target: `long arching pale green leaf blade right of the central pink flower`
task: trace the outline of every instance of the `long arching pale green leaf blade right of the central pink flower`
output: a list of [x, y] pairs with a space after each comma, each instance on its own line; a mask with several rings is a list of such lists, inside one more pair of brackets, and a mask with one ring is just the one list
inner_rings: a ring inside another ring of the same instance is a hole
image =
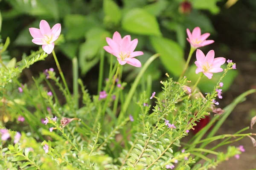
[[143, 76], [143, 74], [145, 73], [145, 71], [147, 70], [148, 66], [151, 64], [151, 62], [153, 62], [154, 59], [156, 59], [159, 56], [160, 56], [160, 54], [154, 54], [153, 56], [151, 56], [147, 60], [147, 62], [143, 66], [143, 68], [140, 70], [140, 73], [137, 75], [136, 79], [134, 80], [134, 83], [132, 84], [131, 89], [130, 89], [130, 91], [129, 91], [126, 99], [125, 99], [124, 105], [122, 106], [122, 110], [121, 110], [121, 112], [119, 114], [119, 117], [118, 117], [118, 120], [117, 120], [118, 124], [122, 121], [123, 117], [125, 116], [127, 108], [128, 108], [128, 106], [129, 106], [129, 104], [131, 102], [131, 98], [134, 95], [134, 92], [136, 91], [137, 86], [139, 85], [141, 77]]

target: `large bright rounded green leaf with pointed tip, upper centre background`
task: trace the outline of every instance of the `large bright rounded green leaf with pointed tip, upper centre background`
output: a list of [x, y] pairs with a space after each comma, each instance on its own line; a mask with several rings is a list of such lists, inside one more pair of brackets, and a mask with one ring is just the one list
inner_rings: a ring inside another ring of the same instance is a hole
[[125, 14], [122, 28], [134, 34], [161, 35], [156, 17], [140, 8], [132, 9]]

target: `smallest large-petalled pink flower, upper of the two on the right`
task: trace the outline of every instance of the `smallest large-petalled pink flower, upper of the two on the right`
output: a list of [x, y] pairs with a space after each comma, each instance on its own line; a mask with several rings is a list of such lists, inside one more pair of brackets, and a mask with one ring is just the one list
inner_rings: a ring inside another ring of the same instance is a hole
[[213, 40], [206, 40], [210, 36], [210, 34], [205, 33], [201, 35], [201, 29], [199, 27], [195, 27], [192, 31], [192, 34], [187, 28], [187, 34], [189, 37], [187, 38], [187, 40], [193, 48], [203, 47], [214, 42]]

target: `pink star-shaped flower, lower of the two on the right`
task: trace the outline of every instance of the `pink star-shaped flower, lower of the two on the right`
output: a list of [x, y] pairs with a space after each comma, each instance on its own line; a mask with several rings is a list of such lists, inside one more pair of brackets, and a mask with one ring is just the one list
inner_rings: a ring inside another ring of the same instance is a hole
[[195, 70], [195, 73], [198, 74], [203, 72], [208, 79], [212, 78], [212, 73], [219, 73], [223, 71], [221, 65], [223, 65], [226, 61], [224, 57], [214, 58], [214, 51], [211, 50], [207, 53], [206, 57], [201, 50], [196, 51], [196, 59], [195, 65], [198, 67]]

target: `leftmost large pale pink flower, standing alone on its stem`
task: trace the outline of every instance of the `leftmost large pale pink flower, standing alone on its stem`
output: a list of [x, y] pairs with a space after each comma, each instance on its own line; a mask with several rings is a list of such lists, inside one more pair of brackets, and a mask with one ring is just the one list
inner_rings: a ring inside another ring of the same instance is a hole
[[61, 34], [61, 24], [55, 24], [51, 29], [47, 21], [41, 20], [39, 28], [29, 28], [29, 32], [34, 38], [32, 42], [42, 45], [44, 52], [51, 54], [54, 48], [54, 42]]

